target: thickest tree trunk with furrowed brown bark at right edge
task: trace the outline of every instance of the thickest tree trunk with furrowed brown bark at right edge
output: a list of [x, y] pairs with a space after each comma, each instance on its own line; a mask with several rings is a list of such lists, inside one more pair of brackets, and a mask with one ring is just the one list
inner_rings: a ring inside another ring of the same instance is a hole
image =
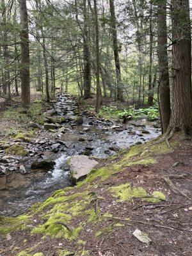
[[192, 122], [189, 1], [172, 1], [172, 115], [167, 134], [189, 134]]

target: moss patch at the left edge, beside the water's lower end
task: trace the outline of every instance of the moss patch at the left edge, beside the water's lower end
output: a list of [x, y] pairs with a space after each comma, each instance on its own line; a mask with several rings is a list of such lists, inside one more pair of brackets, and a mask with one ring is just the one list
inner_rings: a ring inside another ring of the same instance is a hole
[[17, 218], [0, 217], [0, 234], [5, 236], [15, 230], [25, 230], [29, 223], [31, 223], [31, 217], [28, 215], [20, 215]]

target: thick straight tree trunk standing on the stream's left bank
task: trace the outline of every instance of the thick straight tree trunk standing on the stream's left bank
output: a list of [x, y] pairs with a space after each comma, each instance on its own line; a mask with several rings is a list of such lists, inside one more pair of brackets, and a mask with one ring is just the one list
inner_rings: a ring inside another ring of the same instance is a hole
[[20, 9], [20, 56], [21, 56], [21, 100], [22, 106], [27, 108], [30, 104], [30, 81], [29, 81], [29, 33], [28, 33], [28, 10], [26, 0], [19, 0]]

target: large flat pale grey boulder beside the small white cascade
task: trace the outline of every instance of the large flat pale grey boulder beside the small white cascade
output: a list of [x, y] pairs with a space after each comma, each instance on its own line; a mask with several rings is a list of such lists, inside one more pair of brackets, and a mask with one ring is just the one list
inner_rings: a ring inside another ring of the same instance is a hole
[[98, 164], [97, 161], [89, 159], [88, 156], [72, 156], [68, 161], [72, 182], [77, 183], [78, 180], [84, 179]]

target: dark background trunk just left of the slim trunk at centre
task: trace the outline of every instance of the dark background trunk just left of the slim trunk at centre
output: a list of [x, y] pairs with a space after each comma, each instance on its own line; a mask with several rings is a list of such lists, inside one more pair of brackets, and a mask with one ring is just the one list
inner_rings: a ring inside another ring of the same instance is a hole
[[83, 55], [84, 55], [84, 99], [91, 97], [91, 64], [90, 64], [90, 48], [88, 44], [88, 19], [87, 19], [87, 6], [86, 0], [83, 0]]

